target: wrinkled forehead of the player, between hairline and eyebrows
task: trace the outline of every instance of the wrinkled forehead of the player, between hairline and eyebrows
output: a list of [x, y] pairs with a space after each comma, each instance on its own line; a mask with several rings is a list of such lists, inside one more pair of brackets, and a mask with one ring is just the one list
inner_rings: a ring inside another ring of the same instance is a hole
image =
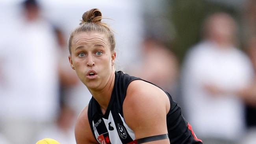
[[91, 31], [91, 32], [80, 32], [80, 33], [74, 34], [72, 42], [73, 44], [78, 44], [80, 42], [85, 42], [85, 43], [100, 42], [100, 43], [107, 44], [108, 40], [107, 40], [106, 34]]

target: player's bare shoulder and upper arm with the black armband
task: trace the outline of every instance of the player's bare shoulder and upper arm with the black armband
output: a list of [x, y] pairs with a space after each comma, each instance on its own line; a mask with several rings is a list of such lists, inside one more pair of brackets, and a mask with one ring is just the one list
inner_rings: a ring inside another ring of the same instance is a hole
[[[134, 131], [135, 138], [166, 134], [166, 114], [170, 109], [169, 98], [158, 87], [145, 81], [132, 81], [123, 103], [126, 124]], [[158, 140], [147, 144], [169, 144], [169, 140]]]

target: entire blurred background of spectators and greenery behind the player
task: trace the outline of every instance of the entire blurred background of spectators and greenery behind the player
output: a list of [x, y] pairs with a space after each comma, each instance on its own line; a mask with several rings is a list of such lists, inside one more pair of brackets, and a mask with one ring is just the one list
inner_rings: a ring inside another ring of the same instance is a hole
[[92, 8], [116, 69], [169, 92], [205, 144], [256, 143], [256, 0], [1, 0], [0, 144], [75, 144], [91, 94], [67, 39]]

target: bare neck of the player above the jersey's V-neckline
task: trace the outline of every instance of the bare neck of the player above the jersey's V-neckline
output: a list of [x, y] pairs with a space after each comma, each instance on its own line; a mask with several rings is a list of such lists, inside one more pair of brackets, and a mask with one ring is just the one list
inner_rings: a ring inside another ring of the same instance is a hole
[[111, 98], [112, 90], [115, 84], [115, 70], [114, 68], [111, 71], [111, 75], [108, 79], [107, 85], [102, 90], [90, 90], [93, 98], [99, 103], [100, 108], [102, 110], [102, 114], [105, 114], [108, 103]]

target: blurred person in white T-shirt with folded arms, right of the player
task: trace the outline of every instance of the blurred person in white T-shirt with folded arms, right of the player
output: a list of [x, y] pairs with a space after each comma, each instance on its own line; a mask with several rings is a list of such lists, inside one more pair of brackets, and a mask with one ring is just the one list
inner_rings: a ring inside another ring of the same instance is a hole
[[204, 40], [187, 54], [182, 91], [188, 121], [206, 144], [235, 144], [244, 134], [243, 101], [235, 91], [253, 78], [249, 58], [236, 45], [236, 23], [215, 13], [204, 23]]

